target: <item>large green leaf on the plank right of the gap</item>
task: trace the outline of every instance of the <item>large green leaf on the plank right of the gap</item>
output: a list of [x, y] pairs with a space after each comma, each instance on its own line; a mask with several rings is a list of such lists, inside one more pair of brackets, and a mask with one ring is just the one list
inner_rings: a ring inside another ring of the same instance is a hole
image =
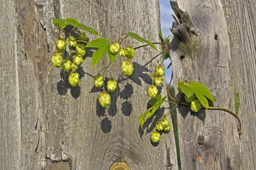
[[178, 82], [178, 87], [188, 98], [195, 94], [205, 108], [209, 107], [206, 97], [215, 102], [211, 92], [204, 84], [200, 82], [190, 82], [189, 85], [185, 85], [184, 82]]

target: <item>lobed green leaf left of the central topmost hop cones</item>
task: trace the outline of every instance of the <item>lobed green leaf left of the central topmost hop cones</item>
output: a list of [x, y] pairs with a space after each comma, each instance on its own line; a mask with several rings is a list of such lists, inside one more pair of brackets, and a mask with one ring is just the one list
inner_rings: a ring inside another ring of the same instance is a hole
[[117, 54], [115, 55], [111, 54], [109, 51], [109, 46], [110, 46], [110, 40], [105, 38], [98, 38], [96, 40], [92, 40], [85, 46], [87, 48], [88, 47], [99, 48], [97, 51], [93, 52], [93, 67], [100, 62], [100, 60], [106, 53], [108, 54], [108, 57], [111, 63], [113, 63], [113, 61], [116, 59]]

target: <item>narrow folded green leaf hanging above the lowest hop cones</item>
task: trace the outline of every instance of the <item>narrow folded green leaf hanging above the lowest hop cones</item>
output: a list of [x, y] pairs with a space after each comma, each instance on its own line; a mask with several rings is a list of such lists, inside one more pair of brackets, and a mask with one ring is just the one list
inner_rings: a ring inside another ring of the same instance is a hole
[[161, 95], [157, 95], [157, 97], [153, 98], [154, 100], [150, 100], [149, 102], [151, 104], [153, 104], [153, 102], [155, 101], [154, 105], [151, 106], [151, 108], [149, 108], [145, 113], [143, 113], [142, 115], [140, 115], [139, 118], [139, 122], [140, 122], [140, 127], [143, 129], [143, 124], [144, 122], [150, 118], [155, 111], [157, 111], [157, 109], [162, 105], [163, 101], [165, 100], [166, 96], [163, 97], [163, 99], [161, 99]]

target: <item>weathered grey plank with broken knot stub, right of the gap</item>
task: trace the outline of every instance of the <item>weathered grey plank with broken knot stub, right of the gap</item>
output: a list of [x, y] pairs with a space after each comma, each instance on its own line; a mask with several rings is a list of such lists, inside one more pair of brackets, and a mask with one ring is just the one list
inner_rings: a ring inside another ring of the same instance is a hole
[[[180, 8], [188, 12], [192, 25], [188, 16], [183, 17], [182, 11], [176, 12], [179, 20], [183, 18], [183, 21], [175, 26], [175, 30], [172, 29], [177, 33], [175, 38], [171, 35], [175, 89], [177, 82], [185, 77], [202, 82], [212, 92], [217, 106], [234, 111], [229, 37], [221, 1], [178, 2]], [[190, 31], [191, 26], [200, 31]], [[215, 34], [218, 34], [217, 40], [214, 39]], [[186, 39], [188, 41], [184, 42]], [[184, 58], [180, 57], [182, 53]], [[232, 115], [212, 110], [193, 113], [189, 107], [180, 106], [177, 122], [182, 169], [241, 169], [237, 121]], [[202, 138], [204, 142], [200, 142]]]

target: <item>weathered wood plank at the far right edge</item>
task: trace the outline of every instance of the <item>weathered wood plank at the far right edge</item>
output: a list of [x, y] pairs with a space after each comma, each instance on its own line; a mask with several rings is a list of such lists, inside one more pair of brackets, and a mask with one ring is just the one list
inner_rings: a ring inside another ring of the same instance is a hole
[[256, 169], [256, 3], [222, 1], [230, 41], [231, 77], [240, 95], [241, 167]]

